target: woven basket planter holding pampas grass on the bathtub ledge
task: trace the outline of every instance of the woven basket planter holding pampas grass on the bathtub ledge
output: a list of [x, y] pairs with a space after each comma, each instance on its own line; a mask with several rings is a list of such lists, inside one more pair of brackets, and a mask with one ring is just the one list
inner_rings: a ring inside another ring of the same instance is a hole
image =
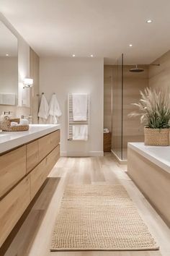
[[145, 144], [151, 146], [169, 146], [170, 129], [144, 128]]

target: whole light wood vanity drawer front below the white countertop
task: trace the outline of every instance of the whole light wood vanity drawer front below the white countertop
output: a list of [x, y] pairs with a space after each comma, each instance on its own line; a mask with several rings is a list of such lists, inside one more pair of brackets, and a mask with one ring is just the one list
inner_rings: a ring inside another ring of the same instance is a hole
[[60, 131], [0, 155], [0, 247], [60, 157]]

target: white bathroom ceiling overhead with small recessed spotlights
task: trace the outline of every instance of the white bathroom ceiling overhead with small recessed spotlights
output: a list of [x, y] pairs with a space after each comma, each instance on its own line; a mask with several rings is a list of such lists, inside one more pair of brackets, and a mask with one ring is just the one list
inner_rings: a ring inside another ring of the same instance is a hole
[[40, 56], [109, 64], [124, 53], [126, 64], [149, 64], [170, 49], [169, 0], [1, 0], [0, 9]]

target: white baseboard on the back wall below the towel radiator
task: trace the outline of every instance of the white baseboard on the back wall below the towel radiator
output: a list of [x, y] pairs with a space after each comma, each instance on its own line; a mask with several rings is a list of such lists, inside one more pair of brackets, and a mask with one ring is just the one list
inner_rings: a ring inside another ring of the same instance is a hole
[[79, 151], [73, 151], [73, 152], [67, 152], [67, 151], [61, 151], [61, 156], [68, 156], [68, 157], [88, 157], [88, 156], [103, 156], [103, 151], [89, 151], [89, 152], [79, 152]]

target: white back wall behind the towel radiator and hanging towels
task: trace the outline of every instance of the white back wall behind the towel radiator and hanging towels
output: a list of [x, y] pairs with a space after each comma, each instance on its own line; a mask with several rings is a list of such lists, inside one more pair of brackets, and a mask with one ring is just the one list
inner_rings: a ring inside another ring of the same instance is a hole
[[[62, 155], [103, 154], [103, 59], [91, 58], [40, 58], [40, 93], [48, 101], [57, 94], [61, 116]], [[89, 93], [91, 101], [89, 140], [68, 141], [68, 93]]]

